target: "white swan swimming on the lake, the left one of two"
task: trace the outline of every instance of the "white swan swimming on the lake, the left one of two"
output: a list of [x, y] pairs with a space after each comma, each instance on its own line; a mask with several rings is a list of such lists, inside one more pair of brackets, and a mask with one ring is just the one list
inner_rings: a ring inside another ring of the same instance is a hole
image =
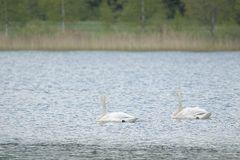
[[97, 122], [130, 122], [133, 123], [137, 120], [136, 117], [131, 116], [124, 112], [112, 112], [107, 113], [106, 108], [106, 97], [101, 97], [101, 105], [102, 105], [102, 114], [97, 118]]

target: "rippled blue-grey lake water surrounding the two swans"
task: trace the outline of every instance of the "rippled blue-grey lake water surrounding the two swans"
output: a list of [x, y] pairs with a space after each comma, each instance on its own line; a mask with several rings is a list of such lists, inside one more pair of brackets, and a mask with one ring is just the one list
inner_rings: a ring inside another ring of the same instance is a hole
[[[239, 159], [240, 53], [0, 52], [0, 159]], [[184, 104], [209, 120], [172, 120]], [[137, 123], [98, 124], [109, 111]]]

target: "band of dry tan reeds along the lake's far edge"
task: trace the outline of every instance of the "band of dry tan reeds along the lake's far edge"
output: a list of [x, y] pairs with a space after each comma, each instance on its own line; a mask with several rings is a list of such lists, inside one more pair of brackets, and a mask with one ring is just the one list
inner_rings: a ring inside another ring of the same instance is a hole
[[186, 33], [0, 34], [0, 50], [239, 51], [240, 39]]

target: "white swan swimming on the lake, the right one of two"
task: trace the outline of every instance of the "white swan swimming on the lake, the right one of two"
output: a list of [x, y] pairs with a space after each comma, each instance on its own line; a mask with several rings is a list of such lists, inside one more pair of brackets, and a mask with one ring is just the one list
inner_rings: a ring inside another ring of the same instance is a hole
[[211, 116], [210, 112], [199, 107], [183, 107], [182, 105], [182, 93], [177, 92], [178, 107], [171, 115], [174, 119], [207, 119]]

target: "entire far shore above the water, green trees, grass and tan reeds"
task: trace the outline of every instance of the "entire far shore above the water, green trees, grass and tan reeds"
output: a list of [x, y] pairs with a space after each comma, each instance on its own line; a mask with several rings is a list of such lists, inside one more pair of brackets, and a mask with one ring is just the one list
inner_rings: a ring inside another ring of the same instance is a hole
[[46, 46], [53, 40], [62, 49], [239, 50], [240, 0], [0, 0], [1, 49], [61, 49]]

